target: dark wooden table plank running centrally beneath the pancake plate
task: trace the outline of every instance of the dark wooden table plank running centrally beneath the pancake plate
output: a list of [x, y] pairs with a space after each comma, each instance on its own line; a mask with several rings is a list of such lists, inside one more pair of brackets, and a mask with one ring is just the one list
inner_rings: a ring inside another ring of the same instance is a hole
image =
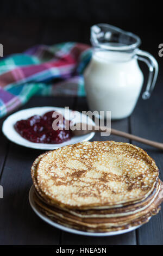
[[[86, 99], [78, 98], [76, 110], [82, 112], [87, 111], [87, 103]], [[119, 129], [121, 131], [129, 131], [129, 121], [128, 119], [123, 119], [120, 121], [112, 121], [111, 127], [114, 129]], [[109, 137], [101, 137], [100, 133], [96, 133], [95, 137], [91, 139], [91, 141], [121, 141], [121, 142], [129, 142], [128, 139], [117, 137], [117, 136], [109, 136]], [[68, 234], [67, 232], [62, 232], [61, 236], [61, 245], [136, 245], [136, 234], [135, 231], [132, 231], [128, 234], [111, 236], [111, 237], [93, 237], [93, 236], [82, 236], [82, 235], [74, 235]]]

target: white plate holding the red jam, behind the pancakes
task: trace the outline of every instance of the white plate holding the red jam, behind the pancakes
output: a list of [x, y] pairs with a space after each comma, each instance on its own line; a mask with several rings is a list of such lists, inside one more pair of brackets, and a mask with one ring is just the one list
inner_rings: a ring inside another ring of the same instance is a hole
[[42, 149], [42, 150], [53, 150], [58, 149], [60, 147], [64, 147], [66, 145], [75, 144], [78, 142], [84, 142], [89, 141], [94, 135], [95, 132], [91, 132], [87, 135], [83, 136], [75, 136], [70, 139], [70, 141], [66, 141], [59, 144], [46, 144], [46, 143], [33, 143], [30, 141], [27, 141], [27, 139], [24, 139], [21, 137], [18, 132], [14, 129], [14, 124], [21, 120], [21, 119], [27, 119], [29, 117], [32, 117], [32, 115], [35, 114], [45, 114], [48, 111], [57, 111], [60, 112], [66, 119], [67, 117], [73, 118], [74, 123], [79, 123], [82, 120], [82, 123], [88, 122], [88, 124], [94, 124], [91, 118], [87, 118], [86, 115], [78, 112], [78, 111], [72, 111], [68, 108], [60, 108], [60, 107], [33, 107], [28, 109], [23, 109], [21, 111], [18, 111], [14, 114], [11, 114], [7, 119], [5, 119], [2, 131], [4, 135], [12, 142], [27, 147], [27, 148], [33, 148], [33, 149]]

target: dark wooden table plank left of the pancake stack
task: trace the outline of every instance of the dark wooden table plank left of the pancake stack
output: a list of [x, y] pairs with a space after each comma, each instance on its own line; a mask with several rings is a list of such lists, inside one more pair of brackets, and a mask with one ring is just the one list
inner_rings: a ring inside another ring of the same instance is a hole
[[[72, 97], [33, 97], [23, 108], [47, 105], [72, 107], [73, 101]], [[42, 152], [10, 144], [0, 182], [4, 189], [0, 208], [2, 245], [59, 245], [61, 231], [41, 221], [28, 202], [32, 185], [30, 167]]]

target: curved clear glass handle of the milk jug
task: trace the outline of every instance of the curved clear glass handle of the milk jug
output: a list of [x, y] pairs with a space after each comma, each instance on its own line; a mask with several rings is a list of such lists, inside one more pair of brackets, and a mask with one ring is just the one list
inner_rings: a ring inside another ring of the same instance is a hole
[[149, 75], [147, 81], [147, 87], [145, 92], [142, 94], [142, 99], [147, 100], [151, 96], [154, 89], [156, 79], [158, 77], [159, 66], [156, 59], [148, 52], [137, 49], [136, 58], [145, 62], [149, 68]]

